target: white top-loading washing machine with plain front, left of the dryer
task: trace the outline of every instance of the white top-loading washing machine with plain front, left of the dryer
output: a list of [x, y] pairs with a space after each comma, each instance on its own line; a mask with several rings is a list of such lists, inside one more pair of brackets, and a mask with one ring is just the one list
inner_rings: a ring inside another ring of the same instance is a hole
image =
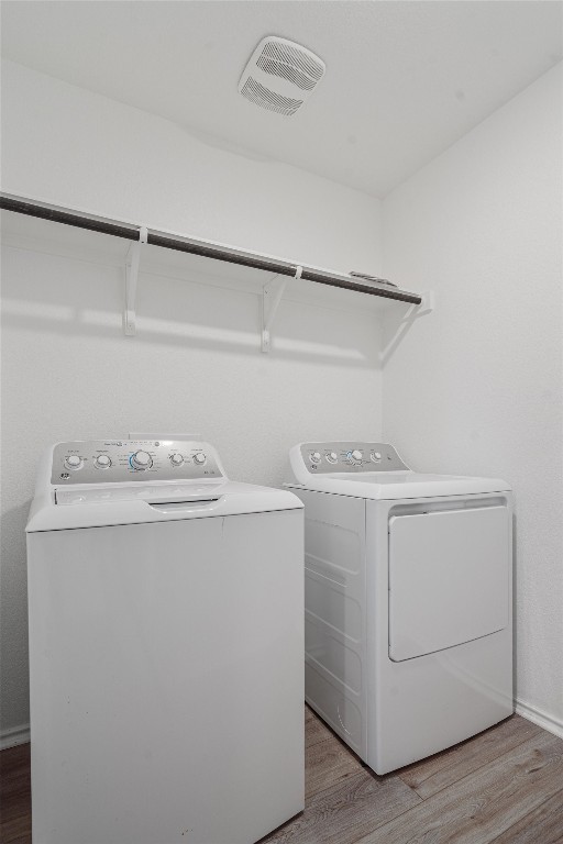
[[299, 499], [209, 443], [59, 443], [27, 553], [34, 844], [252, 844], [302, 810]]

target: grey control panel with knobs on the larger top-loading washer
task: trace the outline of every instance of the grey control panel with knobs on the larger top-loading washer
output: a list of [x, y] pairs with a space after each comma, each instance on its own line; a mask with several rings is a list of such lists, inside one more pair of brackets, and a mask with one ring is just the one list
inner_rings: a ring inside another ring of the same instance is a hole
[[223, 478], [209, 443], [187, 440], [89, 440], [58, 443], [51, 482], [107, 484]]

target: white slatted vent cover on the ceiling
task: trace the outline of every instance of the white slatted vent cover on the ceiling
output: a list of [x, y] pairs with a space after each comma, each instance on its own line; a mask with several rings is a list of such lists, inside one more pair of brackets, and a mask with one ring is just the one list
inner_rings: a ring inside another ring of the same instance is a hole
[[307, 47], [267, 35], [243, 70], [239, 93], [263, 109], [289, 116], [311, 96], [324, 69], [324, 62]]

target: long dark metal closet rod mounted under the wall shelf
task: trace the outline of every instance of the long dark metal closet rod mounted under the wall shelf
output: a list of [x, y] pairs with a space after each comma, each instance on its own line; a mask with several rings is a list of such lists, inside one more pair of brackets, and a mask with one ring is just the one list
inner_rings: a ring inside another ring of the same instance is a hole
[[[5, 211], [14, 211], [18, 214], [27, 214], [29, 216], [37, 216], [42, 220], [51, 220], [55, 223], [74, 225], [78, 229], [88, 229], [91, 232], [99, 232], [100, 234], [123, 237], [128, 241], [139, 241], [141, 236], [139, 226], [64, 210], [56, 206], [37, 204], [31, 200], [8, 196], [5, 193], [0, 195], [0, 208]], [[201, 241], [195, 241], [187, 237], [176, 237], [166, 234], [165, 232], [157, 232], [151, 229], [148, 230], [147, 243], [152, 246], [162, 246], [166, 249], [187, 252], [192, 255], [201, 255], [205, 258], [213, 258], [214, 260], [224, 260], [230, 264], [240, 264], [244, 267], [263, 269], [266, 273], [275, 273], [280, 276], [295, 276], [297, 271], [297, 265], [295, 264], [261, 257], [260, 255], [249, 255], [242, 251], [221, 246], [219, 244], [202, 243]], [[302, 268], [301, 278], [306, 281], [316, 281], [319, 285], [328, 285], [329, 287], [340, 287], [343, 290], [353, 290], [357, 293], [378, 296], [383, 299], [394, 299], [399, 302], [410, 302], [411, 304], [420, 304], [422, 302], [422, 298], [418, 293], [410, 293], [406, 290], [399, 290], [391, 287], [376, 286], [375, 284], [363, 285], [360, 281], [349, 280], [338, 274], [330, 275], [305, 266]]]

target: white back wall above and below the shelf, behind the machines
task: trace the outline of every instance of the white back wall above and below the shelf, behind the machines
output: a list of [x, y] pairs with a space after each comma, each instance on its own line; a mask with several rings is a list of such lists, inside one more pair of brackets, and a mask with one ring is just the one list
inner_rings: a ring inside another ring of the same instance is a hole
[[[290, 260], [380, 269], [379, 203], [347, 188], [211, 147], [10, 63], [2, 119], [7, 192]], [[43, 448], [131, 429], [196, 431], [217, 444], [232, 477], [276, 485], [299, 440], [380, 434], [377, 320], [346, 310], [360, 297], [317, 288], [309, 303], [285, 302], [277, 348], [264, 356], [257, 295], [186, 280], [177, 268], [145, 273], [139, 333], [125, 338], [123, 270], [111, 256], [35, 236], [5, 242], [4, 732], [27, 721], [23, 529]]]

